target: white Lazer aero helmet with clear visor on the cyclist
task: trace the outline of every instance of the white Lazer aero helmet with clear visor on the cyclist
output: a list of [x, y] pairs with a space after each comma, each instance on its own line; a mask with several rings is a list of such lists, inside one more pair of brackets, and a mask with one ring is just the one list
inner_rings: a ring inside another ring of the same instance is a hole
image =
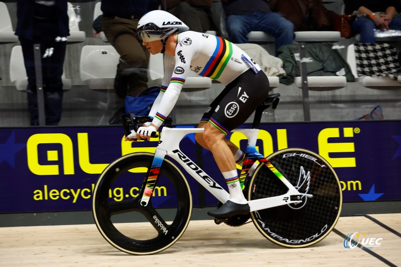
[[185, 32], [189, 28], [177, 17], [162, 10], [146, 13], [138, 22], [139, 40], [149, 43], [155, 40], [165, 40], [174, 32]]

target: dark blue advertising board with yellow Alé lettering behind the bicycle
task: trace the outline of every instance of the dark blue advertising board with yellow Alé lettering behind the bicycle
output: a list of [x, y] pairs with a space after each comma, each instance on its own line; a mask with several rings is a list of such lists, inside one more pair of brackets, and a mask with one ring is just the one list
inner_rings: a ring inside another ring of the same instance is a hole
[[[287, 147], [323, 156], [339, 177], [344, 202], [401, 199], [401, 121], [269, 123], [260, 129], [257, 146], [265, 156]], [[244, 135], [228, 138], [245, 150]], [[115, 126], [0, 128], [0, 213], [90, 210], [104, 168], [128, 153], [154, 152], [157, 143], [157, 138], [125, 142]], [[193, 134], [180, 149], [225, 184], [212, 154], [195, 145]], [[194, 206], [217, 204], [186, 177]], [[128, 191], [114, 190], [111, 197], [118, 201], [135, 192]]]

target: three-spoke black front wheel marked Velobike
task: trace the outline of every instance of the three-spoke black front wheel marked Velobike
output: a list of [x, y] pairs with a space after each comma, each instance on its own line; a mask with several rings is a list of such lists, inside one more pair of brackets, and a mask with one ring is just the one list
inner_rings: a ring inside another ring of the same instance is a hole
[[[168, 248], [185, 231], [192, 212], [189, 185], [167, 159], [161, 164], [155, 185], [159, 186], [159, 194], [152, 196], [146, 207], [140, 205], [138, 192], [153, 157], [152, 153], [139, 152], [118, 158], [102, 172], [93, 192], [92, 212], [97, 228], [111, 245], [129, 254], [153, 254]], [[126, 200], [116, 200], [115, 190], [127, 192], [127, 184], [129, 194], [122, 193]], [[164, 188], [166, 196], [160, 193]], [[156, 187], [153, 194], [155, 191]], [[166, 202], [168, 209], [163, 207]]]

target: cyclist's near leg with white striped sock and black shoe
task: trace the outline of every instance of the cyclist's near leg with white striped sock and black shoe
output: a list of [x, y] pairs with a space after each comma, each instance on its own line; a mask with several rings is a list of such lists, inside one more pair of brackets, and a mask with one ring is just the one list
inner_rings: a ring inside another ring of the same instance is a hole
[[236, 214], [249, 213], [250, 208], [242, 193], [234, 155], [225, 141], [226, 135], [211, 123], [207, 123], [202, 137], [223, 173], [230, 191], [230, 200], [208, 214], [216, 218], [229, 218]]

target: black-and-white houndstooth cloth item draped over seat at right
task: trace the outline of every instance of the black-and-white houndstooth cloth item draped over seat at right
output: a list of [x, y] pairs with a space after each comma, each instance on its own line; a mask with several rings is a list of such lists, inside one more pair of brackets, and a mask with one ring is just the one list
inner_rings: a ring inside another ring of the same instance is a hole
[[[354, 44], [358, 76], [401, 77], [396, 49], [389, 44]], [[399, 79], [398, 79], [399, 81]]]

